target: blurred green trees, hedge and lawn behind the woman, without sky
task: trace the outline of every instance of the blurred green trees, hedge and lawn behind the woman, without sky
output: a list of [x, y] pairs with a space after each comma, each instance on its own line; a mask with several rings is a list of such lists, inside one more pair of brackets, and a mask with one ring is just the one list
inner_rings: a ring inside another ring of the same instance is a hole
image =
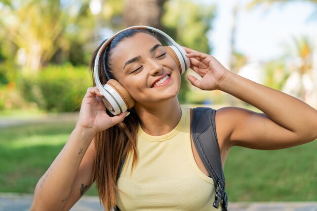
[[[293, 2], [301, 1], [257, 0], [247, 7], [269, 10]], [[302, 2], [317, 8], [317, 1]], [[235, 20], [239, 11], [233, 8]], [[67, 141], [92, 85], [88, 64], [101, 40], [128, 26], [150, 25], [181, 45], [212, 54], [209, 34], [217, 11], [215, 4], [187, 0], [0, 0], [0, 192], [32, 193]], [[248, 55], [235, 48], [234, 21], [230, 30], [227, 67], [245, 76]], [[297, 77], [290, 93], [317, 108], [316, 41], [305, 34], [293, 38], [295, 56], [286, 52], [262, 63], [261, 83], [287, 91]], [[299, 62], [290, 65], [292, 60]], [[179, 100], [254, 109], [226, 93], [189, 86], [184, 77]], [[316, 141], [277, 151], [233, 148], [225, 167], [230, 201], [316, 200], [316, 150]], [[88, 193], [96, 194], [94, 188]]]

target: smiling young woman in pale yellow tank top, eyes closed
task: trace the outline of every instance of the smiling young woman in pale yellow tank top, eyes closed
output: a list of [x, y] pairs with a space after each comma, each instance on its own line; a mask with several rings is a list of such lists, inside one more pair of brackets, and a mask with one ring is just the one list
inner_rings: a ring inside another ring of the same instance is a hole
[[[223, 165], [234, 145], [281, 149], [317, 138], [317, 111], [309, 105], [231, 73], [210, 55], [184, 49], [190, 68], [202, 77], [187, 76], [193, 86], [227, 92], [263, 112], [216, 112]], [[69, 140], [36, 185], [31, 210], [69, 210], [94, 181], [106, 210], [215, 210], [213, 181], [190, 137], [192, 112], [177, 99], [179, 67], [166, 48], [146, 30], [129, 30], [100, 57], [101, 83], [107, 82], [106, 68], [129, 91], [134, 107], [109, 115], [98, 88], [88, 88]]]

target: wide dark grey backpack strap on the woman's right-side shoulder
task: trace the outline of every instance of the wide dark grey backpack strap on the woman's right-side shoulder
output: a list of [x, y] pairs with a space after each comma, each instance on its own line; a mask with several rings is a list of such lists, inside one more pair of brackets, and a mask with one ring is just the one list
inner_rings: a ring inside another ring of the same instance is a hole
[[193, 109], [191, 134], [197, 152], [215, 184], [216, 194], [213, 206], [218, 208], [221, 202], [222, 211], [227, 211], [228, 197], [225, 192], [215, 115], [216, 110], [210, 108]]

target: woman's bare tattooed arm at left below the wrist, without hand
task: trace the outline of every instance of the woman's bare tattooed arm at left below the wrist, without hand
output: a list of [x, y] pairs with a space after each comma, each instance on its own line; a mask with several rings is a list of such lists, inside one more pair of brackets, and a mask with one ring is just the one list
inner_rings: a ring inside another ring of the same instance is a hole
[[[86, 142], [83, 141], [85, 139]], [[31, 210], [62, 210], [65, 205], [73, 205], [81, 197], [80, 188], [76, 187], [78, 182], [90, 187], [94, 144], [90, 144], [89, 140], [92, 137], [85, 131], [74, 129], [62, 151], [38, 181]], [[75, 189], [77, 193], [74, 192]]]

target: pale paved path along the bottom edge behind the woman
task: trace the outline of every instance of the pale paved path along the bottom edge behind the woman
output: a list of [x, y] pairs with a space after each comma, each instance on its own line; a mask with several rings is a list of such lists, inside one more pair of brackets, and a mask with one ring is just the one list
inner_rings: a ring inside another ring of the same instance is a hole
[[[0, 193], [0, 211], [30, 210], [32, 194]], [[102, 211], [98, 197], [83, 196], [70, 211]], [[317, 211], [317, 202], [231, 202], [228, 211]]]

